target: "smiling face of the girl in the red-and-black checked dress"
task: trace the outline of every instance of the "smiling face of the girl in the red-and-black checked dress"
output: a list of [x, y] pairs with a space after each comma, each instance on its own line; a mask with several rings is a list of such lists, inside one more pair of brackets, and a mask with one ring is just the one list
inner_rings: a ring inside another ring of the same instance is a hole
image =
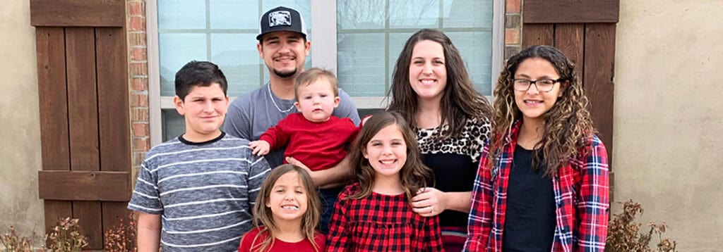
[[404, 135], [397, 125], [392, 124], [379, 130], [372, 140], [369, 140], [362, 154], [369, 160], [377, 178], [398, 177], [406, 163], [406, 150]]

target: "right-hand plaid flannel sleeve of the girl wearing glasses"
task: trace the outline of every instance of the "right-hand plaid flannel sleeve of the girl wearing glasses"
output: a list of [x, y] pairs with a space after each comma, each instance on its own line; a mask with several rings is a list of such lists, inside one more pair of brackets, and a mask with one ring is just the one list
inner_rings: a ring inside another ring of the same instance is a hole
[[581, 185], [577, 195], [578, 251], [604, 251], [607, 238], [609, 187], [607, 150], [596, 135], [581, 157]]

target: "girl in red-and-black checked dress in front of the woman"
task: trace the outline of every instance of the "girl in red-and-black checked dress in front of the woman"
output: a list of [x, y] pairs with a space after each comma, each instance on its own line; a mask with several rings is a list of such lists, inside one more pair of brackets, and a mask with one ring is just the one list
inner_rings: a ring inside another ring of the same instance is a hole
[[327, 251], [442, 251], [438, 217], [423, 217], [410, 206], [433, 175], [403, 117], [370, 117], [350, 155], [356, 183], [339, 194]]

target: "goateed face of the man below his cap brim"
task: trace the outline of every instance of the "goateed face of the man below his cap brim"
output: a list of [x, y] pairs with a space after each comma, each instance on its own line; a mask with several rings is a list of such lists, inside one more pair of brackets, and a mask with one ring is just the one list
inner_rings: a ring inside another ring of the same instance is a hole
[[269, 73], [280, 78], [296, 76], [304, 71], [311, 42], [296, 32], [271, 32], [262, 37], [257, 49]]

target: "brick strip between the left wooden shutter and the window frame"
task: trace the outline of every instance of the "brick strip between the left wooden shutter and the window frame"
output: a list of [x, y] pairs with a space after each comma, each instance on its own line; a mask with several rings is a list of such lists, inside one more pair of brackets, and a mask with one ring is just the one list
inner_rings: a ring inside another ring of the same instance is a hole
[[148, 56], [145, 27], [145, 0], [127, 0], [130, 118], [132, 129], [133, 178], [150, 149], [148, 115]]

